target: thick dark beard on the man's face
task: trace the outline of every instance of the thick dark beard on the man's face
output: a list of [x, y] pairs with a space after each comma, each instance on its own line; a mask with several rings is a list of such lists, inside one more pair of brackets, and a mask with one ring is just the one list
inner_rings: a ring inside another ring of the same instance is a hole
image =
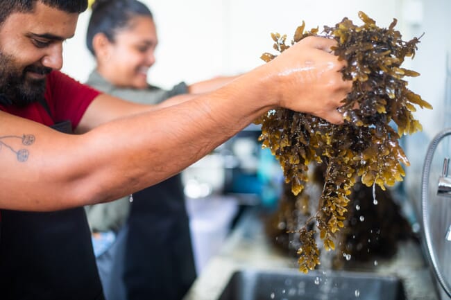
[[11, 55], [0, 52], [0, 103], [17, 107], [44, 99], [46, 80], [26, 78], [26, 72], [48, 74], [50, 68], [30, 65], [24, 69], [17, 67]]

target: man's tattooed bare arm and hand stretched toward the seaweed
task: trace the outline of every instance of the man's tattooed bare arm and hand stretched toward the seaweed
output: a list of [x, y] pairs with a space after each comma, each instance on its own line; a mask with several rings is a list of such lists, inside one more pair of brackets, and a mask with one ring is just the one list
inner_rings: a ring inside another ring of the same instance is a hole
[[339, 123], [337, 107], [351, 83], [341, 79], [332, 44], [303, 39], [210, 94], [115, 121], [94, 121], [110, 97], [101, 95], [80, 122], [92, 127], [85, 134], [0, 112], [0, 208], [50, 211], [115, 200], [180, 172], [274, 107]]

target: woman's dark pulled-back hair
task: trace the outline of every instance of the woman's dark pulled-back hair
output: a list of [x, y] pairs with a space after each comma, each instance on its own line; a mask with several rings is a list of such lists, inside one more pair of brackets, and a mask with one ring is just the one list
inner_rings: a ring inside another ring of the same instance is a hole
[[130, 26], [130, 19], [136, 16], [153, 18], [151, 10], [137, 0], [96, 0], [86, 33], [86, 46], [92, 55], [96, 55], [92, 46], [94, 35], [103, 33], [114, 42], [116, 33]]

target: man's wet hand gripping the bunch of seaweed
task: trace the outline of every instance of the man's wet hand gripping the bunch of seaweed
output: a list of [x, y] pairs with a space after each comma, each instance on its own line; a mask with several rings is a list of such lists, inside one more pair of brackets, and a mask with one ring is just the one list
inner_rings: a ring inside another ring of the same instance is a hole
[[352, 81], [342, 78], [346, 62], [332, 54], [334, 44], [333, 39], [306, 37], [264, 66], [274, 80], [270, 88], [278, 89], [280, 107], [343, 122], [337, 108]]

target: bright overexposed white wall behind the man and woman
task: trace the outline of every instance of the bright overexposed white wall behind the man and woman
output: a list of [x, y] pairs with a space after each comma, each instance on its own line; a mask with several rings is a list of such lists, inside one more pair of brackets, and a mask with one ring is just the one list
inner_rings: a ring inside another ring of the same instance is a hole
[[[306, 28], [332, 26], [343, 17], [359, 23], [363, 10], [380, 26], [402, 19], [402, 0], [144, 0], [155, 16], [160, 44], [149, 80], [170, 87], [216, 75], [240, 73], [271, 52], [271, 33], [293, 36], [302, 21]], [[65, 45], [63, 71], [84, 81], [94, 67], [85, 47], [90, 12], [78, 21], [76, 37]]]

